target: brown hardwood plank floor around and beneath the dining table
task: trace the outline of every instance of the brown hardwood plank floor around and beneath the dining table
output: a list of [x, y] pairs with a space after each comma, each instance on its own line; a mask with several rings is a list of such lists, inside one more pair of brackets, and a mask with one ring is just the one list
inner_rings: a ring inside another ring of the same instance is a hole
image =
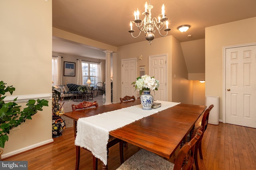
[[[200, 170], [256, 170], [256, 129], [220, 123], [208, 124], [202, 140], [204, 160], [199, 160]], [[124, 160], [139, 150], [128, 144], [124, 148]], [[178, 150], [176, 151], [178, 152]], [[176, 154], [170, 159], [174, 160]], [[198, 154], [199, 156], [199, 154]], [[54, 143], [33, 149], [4, 160], [27, 160], [28, 170], [74, 170], [76, 148], [73, 128], [64, 130]], [[99, 161], [98, 169], [101, 169]], [[120, 166], [119, 147], [109, 150], [108, 169]], [[81, 149], [80, 170], [92, 169], [92, 154]], [[194, 167], [195, 169], [195, 167]]]

